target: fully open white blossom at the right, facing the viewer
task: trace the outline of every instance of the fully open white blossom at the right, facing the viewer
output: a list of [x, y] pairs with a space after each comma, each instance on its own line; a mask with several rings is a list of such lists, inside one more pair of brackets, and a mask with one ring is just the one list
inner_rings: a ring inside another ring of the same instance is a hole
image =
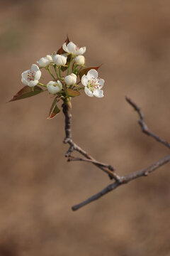
[[98, 78], [98, 72], [95, 69], [89, 70], [86, 75], [81, 78], [81, 83], [84, 85], [84, 92], [89, 97], [103, 97], [103, 90], [101, 88], [104, 85], [104, 80]]

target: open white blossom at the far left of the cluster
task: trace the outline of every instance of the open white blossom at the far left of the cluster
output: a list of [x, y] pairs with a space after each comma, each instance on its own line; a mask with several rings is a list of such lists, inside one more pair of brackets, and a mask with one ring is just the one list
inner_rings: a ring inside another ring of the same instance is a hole
[[21, 82], [23, 82], [24, 85], [33, 87], [38, 84], [40, 77], [40, 68], [38, 68], [38, 65], [33, 64], [30, 70], [26, 70], [21, 74]]

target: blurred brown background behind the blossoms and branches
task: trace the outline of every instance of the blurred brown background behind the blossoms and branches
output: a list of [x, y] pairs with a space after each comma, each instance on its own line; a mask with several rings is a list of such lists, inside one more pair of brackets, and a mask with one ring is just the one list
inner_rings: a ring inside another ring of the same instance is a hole
[[86, 46], [87, 65], [103, 63], [106, 80], [103, 99], [73, 100], [74, 141], [120, 175], [166, 156], [142, 134], [125, 95], [170, 141], [170, 2], [1, 1], [0, 10], [0, 255], [170, 255], [168, 164], [72, 212], [111, 181], [95, 166], [66, 162], [64, 117], [46, 119], [49, 95], [6, 104], [23, 87], [21, 73], [68, 33]]

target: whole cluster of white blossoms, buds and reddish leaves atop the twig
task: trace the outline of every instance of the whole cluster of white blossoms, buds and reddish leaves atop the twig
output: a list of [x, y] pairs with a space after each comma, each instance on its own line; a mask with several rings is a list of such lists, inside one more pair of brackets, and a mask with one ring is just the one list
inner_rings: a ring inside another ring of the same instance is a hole
[[[98, 78], [99, 66], [86, 67], [85, 52], [85, 46], [79, 48], [67, 37], [57, 52], [40, 58], [37, 64], [31, 65], [30, 70], [21, 74], [21, 82], [26, 87], [23, 87], [12, 100], [20, 100], [48, 91], [51, 95], [55, 95], [53, 107], [56, 107], [59, 100], [67, 102], [70, 107], [72, 97], [80, 95], [82, 89], [89, 97], [103, 97], [103, 90], [101, 89], [104, 80]], [[45, 84], [40, 82], [42, 69], [47, 70], [51, 75], [51, 80]]]

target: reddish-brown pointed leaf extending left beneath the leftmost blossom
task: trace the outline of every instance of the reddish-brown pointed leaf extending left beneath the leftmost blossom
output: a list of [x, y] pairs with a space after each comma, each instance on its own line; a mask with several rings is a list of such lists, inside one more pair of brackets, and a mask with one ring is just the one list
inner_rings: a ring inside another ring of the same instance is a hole
[[9, 102], [32, 97], [40, 92], [44, 92], [44, 90], [42, 90], [42, 88], [38, 87], [37, 85], [35, 85], [34, 87], [29, 87], [28, 85], [26, 85], [20, 91], [18, 91], [16, 95], [14, 95], [11, 100], [9, 100]]

